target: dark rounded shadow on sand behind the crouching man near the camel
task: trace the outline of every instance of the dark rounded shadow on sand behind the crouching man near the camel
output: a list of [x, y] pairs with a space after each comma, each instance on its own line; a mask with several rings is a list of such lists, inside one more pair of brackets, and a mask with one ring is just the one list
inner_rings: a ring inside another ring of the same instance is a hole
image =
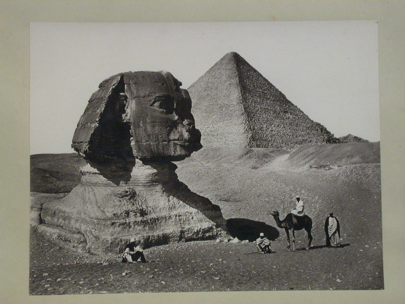
[[247, 218], [229, 218], [226, 221], [226, 228], [228, 228], [233, 238], [249, 240], [249, 242], [255, 241], [259, 237], [260, 232], [263, 232], [264, 236], [272, 241], [279, 237], [277, 228], [264, 222], [253, 221]]

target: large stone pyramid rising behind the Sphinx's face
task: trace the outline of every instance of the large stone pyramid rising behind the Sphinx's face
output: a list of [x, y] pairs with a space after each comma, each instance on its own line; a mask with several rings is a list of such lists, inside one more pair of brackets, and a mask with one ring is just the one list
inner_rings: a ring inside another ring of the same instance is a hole
[[336, 142], [236, 52], [222, 57], [188, 92], [204, 148]]

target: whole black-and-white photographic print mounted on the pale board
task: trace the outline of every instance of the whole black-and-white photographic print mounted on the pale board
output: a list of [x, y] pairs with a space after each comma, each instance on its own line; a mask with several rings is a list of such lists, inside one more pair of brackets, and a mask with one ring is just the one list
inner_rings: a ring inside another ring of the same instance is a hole
[[31, 22], [29, 294], [384, 289], [377, 28]]

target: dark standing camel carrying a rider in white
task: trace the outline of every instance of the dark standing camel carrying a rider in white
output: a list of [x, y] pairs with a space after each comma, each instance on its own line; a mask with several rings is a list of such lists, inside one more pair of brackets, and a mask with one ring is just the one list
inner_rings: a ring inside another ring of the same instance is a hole
[[312, 242], [312, 234], [311, 234], [311, 229], [312, 229], [312, 219], [307, 216], [294, 216], [294, 214], [289, 213], [287, 214], [286, 218], [284, 218], [282, 221], [280, 221], [279, 218], [279, 211], [278, 210], [273, 210], [270, 212], [270, 214], [274, 217], [274, 220], [276, 221], [277, 227], [279, 228], [284, 228], [287, 233], [287, 242], [288, 246], [287, 249], [290, 251], [290, 232], [292, 232], [292, 251], [295, 251], [295, 231], [296, 230], [302, 230], [305, 229], [308, 233], [308, 246], [307, 250], [311, 247], [311, 242]]

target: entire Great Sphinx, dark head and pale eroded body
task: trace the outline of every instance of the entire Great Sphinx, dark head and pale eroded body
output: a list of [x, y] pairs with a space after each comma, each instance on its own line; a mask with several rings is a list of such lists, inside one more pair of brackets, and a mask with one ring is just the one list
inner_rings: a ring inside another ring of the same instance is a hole
[[102, 81], [75, 130], [86, 161], [81, 182], [43, 203], [32, 225], [75, 251], [119, 253], [131, 237], [145, 247], [228, 235], [219, 206], [177, 178], [199, 150], [191, 99], [167, 71], [119, 73]]

